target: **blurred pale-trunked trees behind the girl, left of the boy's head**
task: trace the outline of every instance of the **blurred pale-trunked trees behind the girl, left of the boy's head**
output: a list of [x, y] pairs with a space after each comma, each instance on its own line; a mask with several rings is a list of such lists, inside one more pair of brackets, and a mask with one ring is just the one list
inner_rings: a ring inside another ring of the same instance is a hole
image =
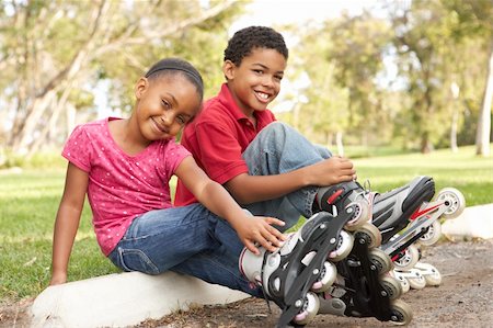
[[220, 50], [210, 57], [207, 47], [191, 49], [197, 39], [217, 44], [213, 31], [226, 43], [225, 24], [240, 8], [233, 0], [208, 7], [173, 0], [2, 2], [0, 102], [13, 117], [8, 147], [32, 154], [50, 132], [65, 136], [70, 127], [61, 128], [67, 124], [60, 122], [88, 105], [85, 95], [101, 79], [114, 81], [112, 93], [123, 99], [116, 105], [125, 110], [130, 103], [127, 86], [160, 57], [199, 58], [203, 65], [220, 58]]

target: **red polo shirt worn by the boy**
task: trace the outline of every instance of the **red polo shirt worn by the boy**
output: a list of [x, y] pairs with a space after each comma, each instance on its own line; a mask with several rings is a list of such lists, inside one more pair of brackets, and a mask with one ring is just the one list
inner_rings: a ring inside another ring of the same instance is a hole
[[[249, 171], [242, 154], [259, 132], [275, 121], [270, 110], [255, 111], [256, 128], [232, 99], [226, 83], [215, 98], [204, 104], [203, 112], [188, 124], [181, 144], [194, 156], [210, 179], [223, 184]], [[194, 195], [179, 181], [175, 206], [196, 203]]]

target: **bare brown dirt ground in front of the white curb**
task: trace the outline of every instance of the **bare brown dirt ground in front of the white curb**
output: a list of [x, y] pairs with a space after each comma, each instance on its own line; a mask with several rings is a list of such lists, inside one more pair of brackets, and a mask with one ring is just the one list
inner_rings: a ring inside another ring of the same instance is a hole
[[[423, 252], [424, 262], [433, 263], [443, 275], [442, 285], [421, 291], [411, 290], [408, 302], [414, 328], [490, 328], [493, 323], [493, 240], [440, 242]], [[0, 327], [30, 327], [32, 299], [0, 306]], [[248, 298], [225, 306], [195, 307], [159, 320], [147, 320], [136, 327], [275, 327], [279, 310], [271, 303], [272, 314], [263, 299]], [[348, 318], [319, 315], [307, 327], [393, 327], [374, 318]]]

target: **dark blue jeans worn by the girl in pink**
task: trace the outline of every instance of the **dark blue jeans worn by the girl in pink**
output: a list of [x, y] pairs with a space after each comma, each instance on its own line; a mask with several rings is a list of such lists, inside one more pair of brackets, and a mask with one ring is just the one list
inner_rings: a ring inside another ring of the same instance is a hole
[[243, 245], [234, 229], [202, 204], [150, 211], [134, 219], [110, 260], [124, 271], [171, 270], [261, 296], [238, 265]]

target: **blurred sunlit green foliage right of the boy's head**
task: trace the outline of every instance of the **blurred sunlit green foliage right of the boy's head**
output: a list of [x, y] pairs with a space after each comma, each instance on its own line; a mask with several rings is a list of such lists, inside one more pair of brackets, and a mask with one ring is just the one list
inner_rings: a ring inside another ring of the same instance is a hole
[[299, 31], [302, 59], [288, 69], [308, 75], [308, 102], [295, 98], [279, 117], [330, 147], [339, 133], [351, 145], [424, 152], [473, 144], [493, 4], [471, 2], [387, 1], [385, 16], [343, 15]]

